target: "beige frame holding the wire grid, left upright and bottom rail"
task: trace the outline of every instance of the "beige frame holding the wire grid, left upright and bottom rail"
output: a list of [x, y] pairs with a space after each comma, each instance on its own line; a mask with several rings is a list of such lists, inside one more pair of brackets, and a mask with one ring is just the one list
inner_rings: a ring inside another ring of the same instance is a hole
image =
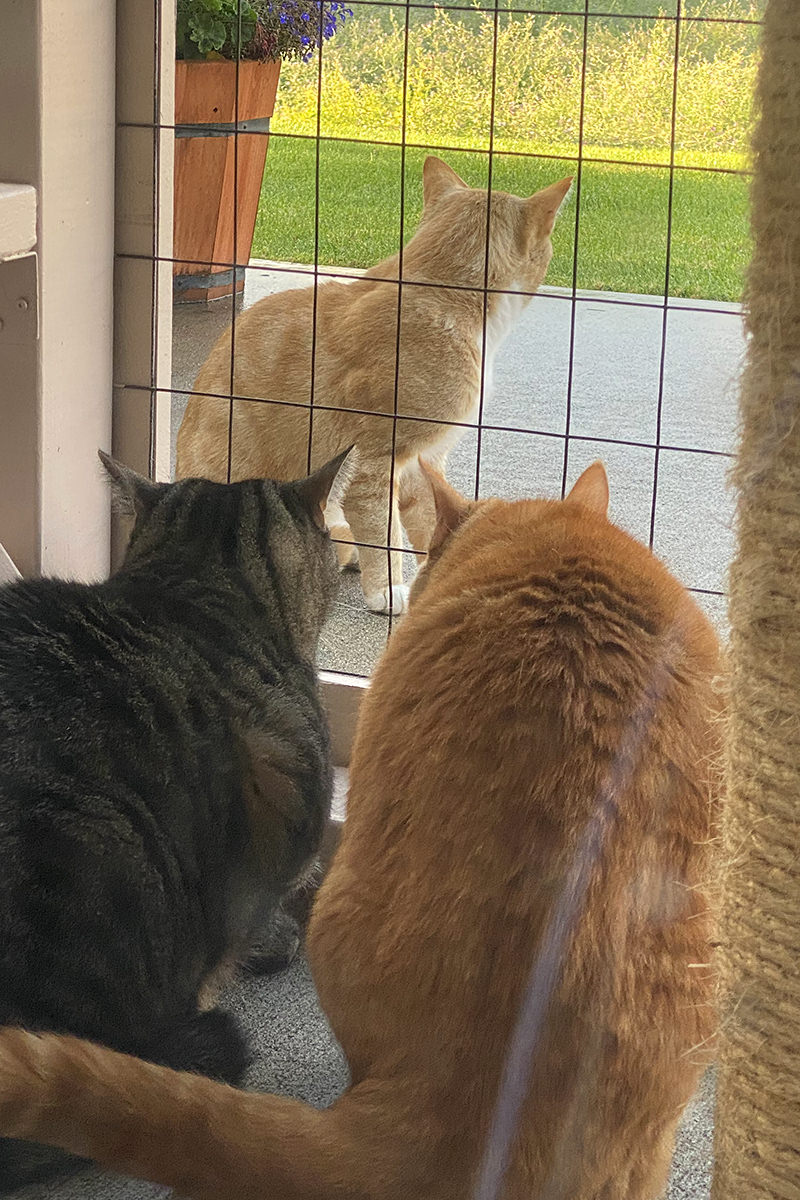
[[[113, 446], [134, 469], [168, 479], [175, 0], [116, 0], [116, 23]], [[124, 536], [115, 533], [115, 557]], [[359, 677], [321, 673], [338, 766], [349, 762], [366, 685]]]

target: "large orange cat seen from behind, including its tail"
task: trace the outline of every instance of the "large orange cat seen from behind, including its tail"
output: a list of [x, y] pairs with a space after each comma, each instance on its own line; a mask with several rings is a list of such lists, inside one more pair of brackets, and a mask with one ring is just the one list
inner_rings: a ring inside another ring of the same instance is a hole
[[463, 500], [369, 689], [312, 919], [317, 1111], [0, 1033], [0, 1134], [193, 1200], [654, 1200], [710, 1056], [716, 637], [606, 517]]

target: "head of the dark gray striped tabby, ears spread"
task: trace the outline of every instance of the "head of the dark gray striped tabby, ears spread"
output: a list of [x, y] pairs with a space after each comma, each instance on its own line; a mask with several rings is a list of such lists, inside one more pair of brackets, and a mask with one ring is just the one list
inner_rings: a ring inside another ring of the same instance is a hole
[[297, 646], [312, 654], [338, 586], [324, 510], [350, 446], [307, 479], [155, 484], [100, 451], [115, 509], [133, 517], [122, 570], [213, 577], [275, 595]]

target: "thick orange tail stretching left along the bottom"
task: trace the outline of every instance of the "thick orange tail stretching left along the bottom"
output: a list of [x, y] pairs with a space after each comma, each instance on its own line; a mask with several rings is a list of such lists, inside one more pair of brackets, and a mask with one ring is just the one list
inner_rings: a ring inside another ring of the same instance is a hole
[[0, 1030], [0, 1135], [58, 1146], [186, 1200], [379, 1196], [380, 1154], [351, 1096], [320, 1111], [78, 1038]]

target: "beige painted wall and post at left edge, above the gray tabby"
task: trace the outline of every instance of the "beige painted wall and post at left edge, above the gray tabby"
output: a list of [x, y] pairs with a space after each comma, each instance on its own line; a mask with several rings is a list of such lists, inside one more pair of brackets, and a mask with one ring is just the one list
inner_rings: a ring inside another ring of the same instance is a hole
[[24, 574], [109, 564], [115, 8], [0, 0], [0, 179], [38, 209], [38, 340], [0, 330], [0, 541]]

